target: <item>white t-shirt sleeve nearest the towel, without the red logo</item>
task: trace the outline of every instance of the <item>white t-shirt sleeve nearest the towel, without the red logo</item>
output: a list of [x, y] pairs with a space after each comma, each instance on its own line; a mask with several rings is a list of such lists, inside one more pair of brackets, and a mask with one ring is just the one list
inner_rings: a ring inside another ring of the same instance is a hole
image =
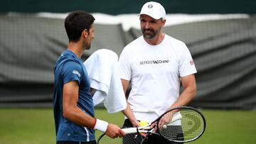
[[120, 77], [121, 79], [126, 79], [126, 80], [130, 80], [131, 76], [132, 76], [132, 70], [131, 67], [129, 65], [129, 55], [128, 55], [128, 51], [127, 49], [124, 48], [124, 50], [122, 51], [120, 57], [119, 57], [119, 72], [120, 72]]

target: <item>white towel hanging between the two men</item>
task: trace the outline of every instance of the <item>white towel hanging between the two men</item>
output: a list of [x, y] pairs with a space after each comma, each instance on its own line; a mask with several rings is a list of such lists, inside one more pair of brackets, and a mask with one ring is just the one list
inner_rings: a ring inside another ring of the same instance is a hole
[[94, 105], [104, 101], [108, 113], [116, 113], [127, 107], [117, 60], [118, 56], [112, 50], [100, 49], [84, 62], [90, 85], [97, 89], [92, 97]]

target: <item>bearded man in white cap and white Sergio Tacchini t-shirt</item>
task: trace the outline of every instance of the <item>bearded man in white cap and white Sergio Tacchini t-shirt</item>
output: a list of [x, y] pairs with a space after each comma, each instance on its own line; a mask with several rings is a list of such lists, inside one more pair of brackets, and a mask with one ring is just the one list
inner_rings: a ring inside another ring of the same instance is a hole
[[[123, 111], [124, 126], [149, 123], [165, 111], [186, 106], [196, 96], [196, 67], [186, 44], [162, 32], [166, 12], [154, 1], [142, 6], [139, 14], [142, 36], [129, 43], [119, 57], [124, 92], [132, 89]], [[180, 94], [180, 84], [183, 92]], [[149, 143], [170, 143], [150, 135]]]

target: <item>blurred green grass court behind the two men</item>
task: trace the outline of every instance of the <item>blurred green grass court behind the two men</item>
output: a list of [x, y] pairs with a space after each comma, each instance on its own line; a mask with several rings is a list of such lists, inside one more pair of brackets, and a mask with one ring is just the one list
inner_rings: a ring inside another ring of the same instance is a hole
[[[201, 109], [206, 131], [191, 144], [255, 144], [256, 111]], [[97, 118], [122, 126], [122, 113], [96, 109]], [[55, 143], [52, 109], [0, 109], [0, 144]], [[97, 137], [101, 133], [97, 131]]]

